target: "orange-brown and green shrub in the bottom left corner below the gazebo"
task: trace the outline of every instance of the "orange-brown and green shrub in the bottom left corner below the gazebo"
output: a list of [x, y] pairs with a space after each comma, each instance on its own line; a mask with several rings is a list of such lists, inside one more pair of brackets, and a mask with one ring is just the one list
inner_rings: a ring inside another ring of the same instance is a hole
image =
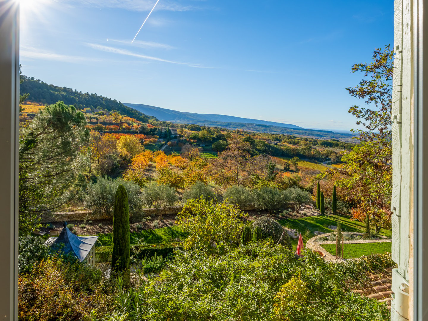
[[111, 309], [113, 289], [101, 270], [80, 262], [48, 258], [18, 279], [19, 320], [84, 320], [94, 307]]

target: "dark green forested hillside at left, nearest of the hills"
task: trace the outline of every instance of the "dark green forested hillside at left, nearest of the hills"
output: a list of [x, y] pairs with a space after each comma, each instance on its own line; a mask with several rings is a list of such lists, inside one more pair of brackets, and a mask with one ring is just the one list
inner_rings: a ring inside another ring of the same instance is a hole
[[23, 80], [21, 94], [29, 93], [29, 101], [50, 105], [62, 100], [65, 104], [74, 105], [79, 109], [93, 107], [107, 109], [107, 111], [119, 111], [122, 115], [127, 115], [145, 123], [149, 119], [157, 120], [156, 117], [147, 116], [138, 110], [125, 106], [116, 99], [89, 94], [89, 92], [82, 93], [67, 87], [49, 85], [39, 79], [34, 79], [34, 77], [21, 76], [21, 80]]

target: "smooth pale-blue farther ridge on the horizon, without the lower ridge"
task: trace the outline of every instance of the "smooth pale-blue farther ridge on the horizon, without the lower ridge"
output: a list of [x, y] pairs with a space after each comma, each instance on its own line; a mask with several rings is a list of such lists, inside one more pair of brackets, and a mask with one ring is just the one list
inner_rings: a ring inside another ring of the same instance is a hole
[[[301, 128], [292, 124], [284, 124], [281, 122], [268, 122], [265, 120], [242, 118], [235, 116], [217, 115], [217, 114], [198, 114], [198, 113], [185, 113], [177, 110], [171, 110], [166, 108], [160, 108], [155, 106], [143, 105], [143, 104], [127, 104], [126, 106], [139, 110], [146, 115], [155, 116], [157, 119], [166, 122], [181, 122], [185, 124], [204, 122], [238, 122], [238, 123], [249, 123], [249, 124], [262, 124], [271, 125], [277, 127], [287, 128]], [[203, 124], [202, 124], [203, 125]]]

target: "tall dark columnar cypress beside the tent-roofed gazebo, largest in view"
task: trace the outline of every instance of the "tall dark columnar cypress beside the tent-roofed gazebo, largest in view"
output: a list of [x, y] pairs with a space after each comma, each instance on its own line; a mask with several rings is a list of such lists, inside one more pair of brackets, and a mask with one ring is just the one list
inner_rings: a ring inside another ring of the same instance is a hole
[[[120, 184], [114, 199], [112, 271], [129, 275], [130, 257], [128, 193]], [[124, 281], [127, 284], [126, 278]]]

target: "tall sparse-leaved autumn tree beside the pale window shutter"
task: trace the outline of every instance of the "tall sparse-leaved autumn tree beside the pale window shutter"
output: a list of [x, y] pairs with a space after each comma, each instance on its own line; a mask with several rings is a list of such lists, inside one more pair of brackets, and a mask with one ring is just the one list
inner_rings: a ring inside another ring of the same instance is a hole
[[[369, 213], [380, 227], [389, 227], [392, 194], [392, 74], [393, 51], [387, 45], [375, 49], [371, 63], [358, 63], [351, 72], [363, 72], [364, 78], [347, 90], [353, 97], [365, 100], [366, 107], [353, 105], [349, 113], [357, 117], [355, 132], [361, 144], [342, 157], [346, 162], [342, 172], [348, 175], [338, 182], [350, 191], [348, 200], [357, 203], [354, 213]], [[355, 218], [365, 220], [365, 215]]]

